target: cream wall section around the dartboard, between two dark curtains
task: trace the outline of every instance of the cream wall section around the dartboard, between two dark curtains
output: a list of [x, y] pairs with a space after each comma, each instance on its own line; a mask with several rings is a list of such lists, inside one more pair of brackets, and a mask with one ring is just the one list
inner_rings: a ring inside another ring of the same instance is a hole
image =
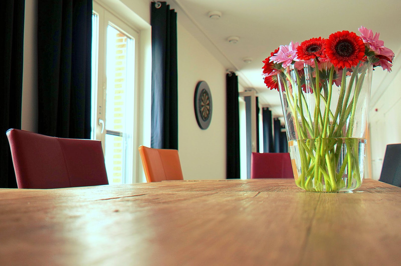
[[[225, 179], [226, 99], [223, 65], [181, 24], [178, 14], [178, 152], [184, 179]], [[209, 127], [198, 127], [194, 92], [198, 81], [209, 85], [213, 113]]]

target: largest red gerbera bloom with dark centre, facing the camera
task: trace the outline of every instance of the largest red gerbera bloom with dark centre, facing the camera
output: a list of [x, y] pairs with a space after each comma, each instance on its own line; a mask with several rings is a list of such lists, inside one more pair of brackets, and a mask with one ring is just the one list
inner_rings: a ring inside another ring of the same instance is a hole
[[334, 67], [354, 67], [365, 55], [365, 44], [355, 32], [343, 30], [330, 34], [325, 52]]

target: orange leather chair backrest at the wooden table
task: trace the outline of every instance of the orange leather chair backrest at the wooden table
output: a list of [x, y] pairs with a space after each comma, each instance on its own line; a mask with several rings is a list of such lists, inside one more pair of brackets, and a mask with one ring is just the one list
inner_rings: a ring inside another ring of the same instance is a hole
[[175, 149], [138, 148], [146, 181], [183, 180], [180, 157]]

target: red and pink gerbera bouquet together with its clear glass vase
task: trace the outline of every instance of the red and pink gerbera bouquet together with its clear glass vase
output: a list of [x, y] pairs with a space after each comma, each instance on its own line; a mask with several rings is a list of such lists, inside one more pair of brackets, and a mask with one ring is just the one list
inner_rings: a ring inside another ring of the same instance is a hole
[[290, 42], [263, 61], [266, 86], [280, 93], [296, 184], [307, 191], [362, 183], [372, 72], [390, 72], [394, 53], [379, 33], [358, 30]]

